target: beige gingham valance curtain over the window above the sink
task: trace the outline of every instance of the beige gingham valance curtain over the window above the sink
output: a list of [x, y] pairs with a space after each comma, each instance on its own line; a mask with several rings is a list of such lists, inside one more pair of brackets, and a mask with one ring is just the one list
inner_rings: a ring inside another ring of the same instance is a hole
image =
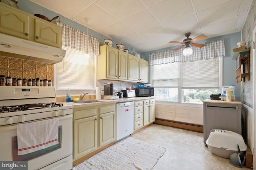
[[87, 33], [74, 29], [60, 21], [54, 20], [52, 23], [62, 27], [62, 46], [83, 52], [88, 49], [90, 54], [100, 55], [100, 40], [98, 38], [87, 35]]

